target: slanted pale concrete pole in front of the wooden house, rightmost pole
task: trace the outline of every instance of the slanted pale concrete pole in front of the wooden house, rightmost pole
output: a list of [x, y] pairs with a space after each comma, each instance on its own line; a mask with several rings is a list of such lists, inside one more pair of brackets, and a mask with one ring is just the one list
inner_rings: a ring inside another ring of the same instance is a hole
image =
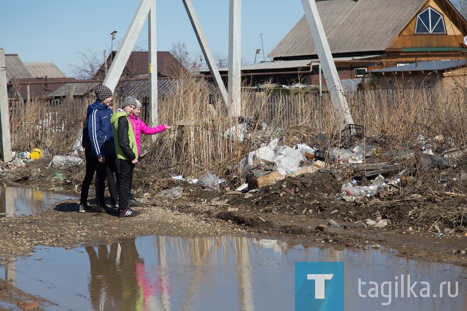
[[338, 109], [347, 124], [353, 124], [349, 105], [342, 91], [341, 80], [337, 73], [336, 64], [332, 59], [331, 49], [329, 48], [329, 43], [327, 42], [326, 34], [324, 33], [324, 28], [321, 24], [321, 18], [320, 14], [318, 14], [316, 2], [315, 0], [302, 0], [302, 4], [303, 9], [305, 10], [308, 26], [310, 27], [313, 42], [315, 42], [316, 51], [320, 58], [324, 79], [326, 80], [326, 85], [331, 93], [332, 104]]

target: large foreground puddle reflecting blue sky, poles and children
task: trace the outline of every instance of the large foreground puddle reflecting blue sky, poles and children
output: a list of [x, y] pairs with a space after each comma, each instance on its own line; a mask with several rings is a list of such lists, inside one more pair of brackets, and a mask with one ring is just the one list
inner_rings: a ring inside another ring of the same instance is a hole
[[[34, 260], [38, 258], [42, 260]], [[344, 261], [347, 311], [362, 306], [465, 310], [467, 286], [460, 267], [407, 260], [381, 250], [307, 248], [235, 236], [154, 236], [72, 251], [43, 248], [18, 260], [15, 272], [18, 287], [58, 303], [61, 310], [293, 310], [296, 261]], [[359, 278], [382, 283], [401, 274], [433, 284], [458, 281], [459, 295], [399, 298], [389, 306], [381, 305], [387, 301], [383, 297], [358, 295]]]

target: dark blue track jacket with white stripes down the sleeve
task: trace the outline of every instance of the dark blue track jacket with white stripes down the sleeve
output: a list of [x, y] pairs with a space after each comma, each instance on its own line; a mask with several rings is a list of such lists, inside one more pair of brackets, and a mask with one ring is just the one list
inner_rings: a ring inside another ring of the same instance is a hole
[[101, 158], [115, 153], [114, 129], [110, 123], [112, 108], [97, 100], [88, 106], [88, 134], [92, 155]]

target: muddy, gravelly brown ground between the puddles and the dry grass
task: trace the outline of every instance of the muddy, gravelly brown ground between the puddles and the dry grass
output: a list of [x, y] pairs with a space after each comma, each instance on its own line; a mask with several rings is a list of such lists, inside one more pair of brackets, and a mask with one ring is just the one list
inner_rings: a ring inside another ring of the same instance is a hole
[[[48, 168], [51, 157], [31, 161], [22, 167], [3, 167], [4, 185], [20, 185], [68, 193], [67, 199], [38, 216], [1, 218], [0, 263], [28, 256], [34, 247], [74, 248], [112, 243], [126, 237], [169, 235], [180, 237], [237, 234], [288, 240], [306, 246], [341, 245], [368, 249], [393, 248], [406, 258], [454, 263], [467, 266], [467, 230], [464, 212], [467, 196], [438, 182], [421, 178], [401, 178], [401, 182], [370, 198], [347, 201], [340, 198], [342, 184], [349, 175], [339, 169], [321, 170], [287, 177], [248, 193], [227, 194], [241, 179], [229, 179], [220, 192], [175, 180], [170, 170], [156, 170], [142, 161], [135, 169], [133, 193], [144, 202], [135, 208], [141, 215], [120, 219], [116, 213], [78, 213], [79, 186], [84, 165]], [[434, 169], [435, 170], [435, 169]], [[56, 172], [65, 178], [56, 177]], [[460, 176], [462, 166], [449, 174]], [[446, 175], [436, 169], [438, 180]], [[388, 176], [391, 177], [391, 176]], [[434, 177], [433, 177], [434, 178]], [[444, 179], [443, 179], [444, 178]], [[370, 183], [370, 180], [363, 183]], [[182, 187], [181, 198], [156, 197], [165, 189]], [[89, 205], [95, 206], [91, 189]], [[109, 201], [110, 203], [110, 201]], [[371, 226], [368, 220], [388, 220], [386, 226]], [[336, 225], [337, 224], [337, 225]], [[40, 298], [25, 296], [18, 289], [0, 284], [0, 301], [23, 304]], [[26, 302], [27, 301], [27, 302]], [[40, 308], [40, 307], [39, 307]], [[39, 309], [33, 309], [39, 310]]]

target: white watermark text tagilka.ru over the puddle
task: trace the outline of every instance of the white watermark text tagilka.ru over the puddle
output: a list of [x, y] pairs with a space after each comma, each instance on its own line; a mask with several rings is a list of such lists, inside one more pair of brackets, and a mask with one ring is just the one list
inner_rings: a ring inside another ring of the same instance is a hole
[[[451, 287], [455, 287], [455, 291]], [[454, 291], [454, 293], [453, 293]], [[450, 281], [443, 281], [438, 284], [431, 284], [426, 281], [414, 281], [410, 274], [396, 276], [394, 281], [382, 283], [358, 279], [358, 295], [362, 298], [387, 298], [381, 305], [390, 305], [394, 298], [443, 298], [447, 296], [454, 298], [459, 293], [459, 282], [451, 284]]]

